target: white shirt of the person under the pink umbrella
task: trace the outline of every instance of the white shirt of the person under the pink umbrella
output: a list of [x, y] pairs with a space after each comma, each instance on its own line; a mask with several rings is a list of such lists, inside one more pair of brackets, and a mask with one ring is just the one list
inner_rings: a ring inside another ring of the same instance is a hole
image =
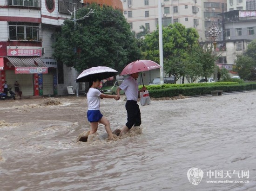
[[129, 76], [126, 78], [121, 85], [119, 86], [122, 90], [124, 90], [125, 96], [127, 100], [138, 100], [138, 91], [139, 91], [139, 86], [137, 81]]

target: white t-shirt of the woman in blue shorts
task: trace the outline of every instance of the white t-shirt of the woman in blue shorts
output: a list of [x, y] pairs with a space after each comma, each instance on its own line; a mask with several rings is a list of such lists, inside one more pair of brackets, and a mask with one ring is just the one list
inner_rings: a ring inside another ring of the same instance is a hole
[[101, 92], [98, 89], [90, 88], [86, 94], [88, 110], [100, 110]]

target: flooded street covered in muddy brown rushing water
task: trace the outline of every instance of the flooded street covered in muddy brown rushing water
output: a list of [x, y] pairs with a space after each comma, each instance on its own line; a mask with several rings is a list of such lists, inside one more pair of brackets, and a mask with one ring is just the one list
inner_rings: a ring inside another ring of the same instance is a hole
[[[112, 130], [124, 98], [101, 100]], [[256, 191], [256, 91], [152, 101], [142, 134], [107, 141], [99, 125], [93, 142], [76, 141], [90, 129], [85, 96], [47, 99], [0, 101], [1, 191]]]

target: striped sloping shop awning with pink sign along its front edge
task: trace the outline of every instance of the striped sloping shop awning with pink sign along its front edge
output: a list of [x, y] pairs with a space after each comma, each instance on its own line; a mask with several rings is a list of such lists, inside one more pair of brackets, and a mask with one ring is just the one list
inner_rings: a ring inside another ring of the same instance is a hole
[[48, 67], [39, 57], [7, 57], [15, 67], [15, 74], [47, 74]]

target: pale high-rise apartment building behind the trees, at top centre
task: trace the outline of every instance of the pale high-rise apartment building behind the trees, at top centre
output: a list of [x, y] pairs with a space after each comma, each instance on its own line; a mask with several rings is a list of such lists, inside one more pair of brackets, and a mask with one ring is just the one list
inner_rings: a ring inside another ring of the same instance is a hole
[[158, 0], [122, 0], [124, 16], [131, 30], [140, 32], [143, 25], [149, 31], [155, 31], [159, 15], [162, 26], [179, 22], [186, 27], [195, 28], [200, 37], [202, 30], [202, 1], [201, 0], [162, 0], [161, 13], [158, 13]]

